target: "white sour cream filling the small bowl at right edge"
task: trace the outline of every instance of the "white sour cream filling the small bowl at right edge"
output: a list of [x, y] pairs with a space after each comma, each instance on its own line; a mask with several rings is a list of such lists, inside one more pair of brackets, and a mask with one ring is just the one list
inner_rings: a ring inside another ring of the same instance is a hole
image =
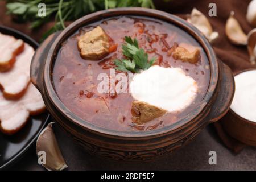
[[242, 118], [256, 122], [256, 70], [234, 78], [236, 91], [230, 108]]

